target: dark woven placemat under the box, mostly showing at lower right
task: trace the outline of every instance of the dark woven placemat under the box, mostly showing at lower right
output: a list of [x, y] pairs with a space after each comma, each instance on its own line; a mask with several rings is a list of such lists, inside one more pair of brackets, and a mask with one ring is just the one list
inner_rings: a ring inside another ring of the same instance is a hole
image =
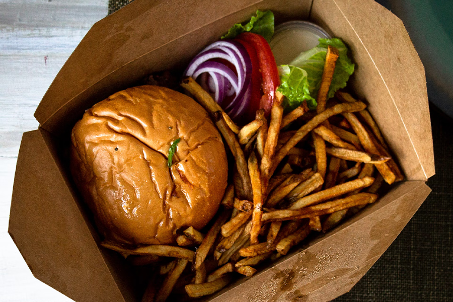
[[[109, 0], [109, 14], [130, 2]], [[436, 175], [428, 180], [432, 193], [390, 248], [335, 302], [453, 301], [453, 120], [432, 105], [430, 114], [436, 161]]]

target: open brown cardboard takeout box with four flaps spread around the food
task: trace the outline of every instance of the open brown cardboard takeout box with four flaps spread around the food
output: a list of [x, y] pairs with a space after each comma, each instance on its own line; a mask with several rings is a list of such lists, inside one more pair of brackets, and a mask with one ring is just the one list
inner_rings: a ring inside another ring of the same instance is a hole
[[210, 301], [327, 301], [347, 292], [384, 253], [431, 191], [434, 174], [425, 73], [402, 22], [372, 0], [137, 0], [96, 23], [57, 74], [24, 133], [9, 233], [34, 276], [75, 301], [138, 301], [130, 267], [98, 245], [64, 148], [83, 112], [146, 74], [181, 67], [256, 9], [276, 23], [311, 20], [351, 48], [351, 81], [407, 181], [332, 232]]

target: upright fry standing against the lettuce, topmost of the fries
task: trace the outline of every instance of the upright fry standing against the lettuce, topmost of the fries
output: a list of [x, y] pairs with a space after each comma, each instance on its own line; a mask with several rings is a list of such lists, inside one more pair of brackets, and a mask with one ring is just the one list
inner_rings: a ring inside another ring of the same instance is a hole
[[326, 63], [324, 64], [321, 84], [318, 90], [318, 97], [316, 98], [316, 102], [318, 103], [316, 112], [318, 114], [326, 109], [327, 94], [329, 93], [330, 84], [332, 83], [335, 63], [337, 62], [338, 56], [338, 49], [329, 45], [327, 47]]

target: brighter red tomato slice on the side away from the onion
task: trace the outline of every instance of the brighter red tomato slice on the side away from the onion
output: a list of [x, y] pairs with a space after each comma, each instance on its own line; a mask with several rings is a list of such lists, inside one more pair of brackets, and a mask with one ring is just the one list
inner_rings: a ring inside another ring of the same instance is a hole
[[280, 85], [277, 63], [275, 62], [272, 50], [266, 39], [254, 33], [242, 33], [237, 36], [237, 39], [238, 41], [245, 41], [255, 48], [262, 75], [261, 88], [263, 90], [263, 96], [260, 100], [260, 108], [264, 108], [266, 116], [269, 116], [272, 103], [274, 102], [275, 90]]

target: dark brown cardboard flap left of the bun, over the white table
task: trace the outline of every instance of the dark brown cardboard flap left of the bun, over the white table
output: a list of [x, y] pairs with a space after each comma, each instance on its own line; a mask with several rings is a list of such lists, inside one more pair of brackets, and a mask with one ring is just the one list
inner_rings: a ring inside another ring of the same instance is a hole
[[98, 248], [45, 135], [35, 130], [22, 137], [8, 233], [33, 275], [71, 299], [135, 300], [118, 287], [105, 257], [120, 257]]

